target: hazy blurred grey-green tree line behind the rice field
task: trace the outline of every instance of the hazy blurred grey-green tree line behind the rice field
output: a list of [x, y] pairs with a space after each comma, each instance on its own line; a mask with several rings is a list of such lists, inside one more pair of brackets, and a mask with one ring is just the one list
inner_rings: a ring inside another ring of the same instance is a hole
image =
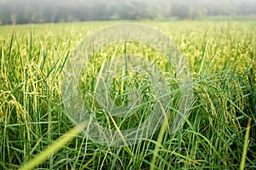
[[0, 0], [0, 25], [255, 14], [255, 0]]

